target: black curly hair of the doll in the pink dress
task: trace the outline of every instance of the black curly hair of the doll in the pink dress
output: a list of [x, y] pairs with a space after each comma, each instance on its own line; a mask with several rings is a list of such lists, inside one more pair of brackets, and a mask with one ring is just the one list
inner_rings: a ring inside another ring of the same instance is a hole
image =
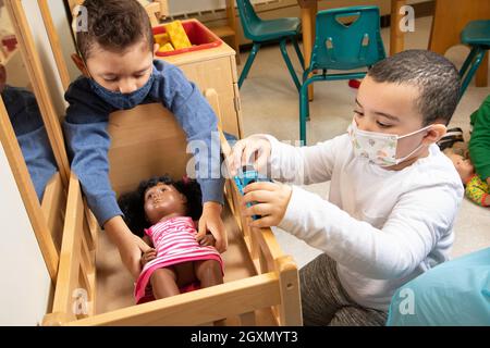
[[124, 214], [127, 227], [137, 236], [144, 236], [144, 229], [150, 227], [145, 215], [145, 192], [158, 183], [172, 185], [187, 199], [187, 216], [199, 220], [203, 214], [201, 191], [199, 184], [194, 179], [183, 178], [174, 182], [169, 175], [154, 176], [139, 183], [136, 190], [121, 195], [118, 199], [119, 207]]

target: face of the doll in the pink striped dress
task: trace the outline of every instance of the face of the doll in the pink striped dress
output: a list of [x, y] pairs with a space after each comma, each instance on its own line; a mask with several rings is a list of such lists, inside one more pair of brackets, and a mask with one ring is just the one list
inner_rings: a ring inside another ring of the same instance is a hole
[[145, 214], [152, 225], [170, 214], [185, 215], [186, 203], [185, 196], [172, 185], [158, 183], [145, 192]]

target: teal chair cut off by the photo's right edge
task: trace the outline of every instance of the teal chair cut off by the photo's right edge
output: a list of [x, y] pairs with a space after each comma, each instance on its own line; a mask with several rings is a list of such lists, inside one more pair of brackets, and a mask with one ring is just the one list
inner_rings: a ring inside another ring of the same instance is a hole
[[490, 21], [469, 22], [461, 33], [461, 41], [468, 45], [471, 50], [460, 70], [462, 78], [460, 99], [480, 66], [485, 53], [490, 49]]

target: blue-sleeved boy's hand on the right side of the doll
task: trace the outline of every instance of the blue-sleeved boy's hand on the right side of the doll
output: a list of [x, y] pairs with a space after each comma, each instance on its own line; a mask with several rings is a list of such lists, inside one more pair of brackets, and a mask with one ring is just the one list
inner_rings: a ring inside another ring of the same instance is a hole
[[221, 220], [221, 210], [222, 207], [218, 202], [209, 201], [204, 203], [196, 240], [200, 244], [200, 240], [209, 231], [216, 239], [216, 249], [219, 252], [224, 252], [228, 248], [228, 237], [226, 229]]

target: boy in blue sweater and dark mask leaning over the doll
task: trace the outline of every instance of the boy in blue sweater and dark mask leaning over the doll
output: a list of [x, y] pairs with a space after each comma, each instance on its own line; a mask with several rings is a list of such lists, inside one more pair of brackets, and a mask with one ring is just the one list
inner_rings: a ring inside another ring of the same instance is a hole
[[63, 128], [72, 170], [99, 224], [136, 278], [145, 245], [134, 238], [122, 220], [109, 182], [107, 126], [109, 114], [114, 111], [161, 102], [175, 115], [187, 141], [206, 144], [208, 151], [195, 151], [204, 203], [197, 240], [203, 240], [209, 231], [217, 240], [216, 248], [223, 252], [223, 181], [219, 137], [212, 136], [218, 129], [212, 109], [177, 67], [154, 60], [159, 46], [155, 44], [148, 14], [138, 1], [86, 0], [79, 15], [85, 16], [79, 21], [85, 25], [76, 29], [79, 55], [74, 54], [73, 59], [84, 75], [65, 94], [70, 105]]

